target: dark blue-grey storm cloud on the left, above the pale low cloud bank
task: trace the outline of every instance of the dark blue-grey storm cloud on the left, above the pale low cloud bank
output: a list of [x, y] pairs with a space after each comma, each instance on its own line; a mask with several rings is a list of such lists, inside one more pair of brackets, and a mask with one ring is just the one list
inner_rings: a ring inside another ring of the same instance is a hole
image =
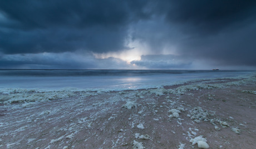
[[130, 22], [147, 18], [143, 1], [1, 1], [3, 53], [125, 49]]

